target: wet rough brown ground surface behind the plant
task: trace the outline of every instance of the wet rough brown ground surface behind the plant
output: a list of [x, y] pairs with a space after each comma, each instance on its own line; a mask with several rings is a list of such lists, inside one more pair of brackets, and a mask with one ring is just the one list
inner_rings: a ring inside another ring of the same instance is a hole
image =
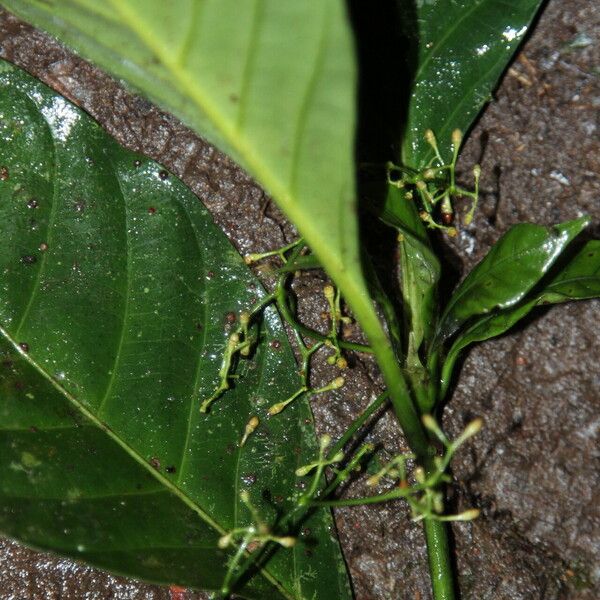
[[[552, 224], [587, 213], [600, 235], [600, 5], [551, 0], [533, 36], [474, 128], [461, 165], [481, 161], [483, 197], [448, 257], [464, 272], [511, 225]], [[161, 162], [202, 199], [241, 253], [294, 238], [261, 188], [176, 119], [0, 11], [0, 56], [88, 111], [125, 146]], [[319, 274], [296, 282], [300, 311], [322, 326]], [[444, 425], [456, 434], [475, 416], [482, 433], [453, 462], [454, 510], [482, 516], [453, 528], [463, 600], [600, 597], [600, 303], [536, 313], [526, 327], [473, 348]], [[321, 361], [315, 377], [331, 378]], [[339, 435], [381, 389], [355, 361], [348, 384], [313, 403], [320, 432]], [[391, 456], [404, 448], [389, 412], [368, 439]], [[360, 492], [355, 484], [348, 493]], [[406, 507], [338, 510], [358, 600], [431, 597], [424, 539]], [[205, 598], [114, 577], [0, 539], [1, 600]], [[333, 600], [333, 599], [332, 599]]]

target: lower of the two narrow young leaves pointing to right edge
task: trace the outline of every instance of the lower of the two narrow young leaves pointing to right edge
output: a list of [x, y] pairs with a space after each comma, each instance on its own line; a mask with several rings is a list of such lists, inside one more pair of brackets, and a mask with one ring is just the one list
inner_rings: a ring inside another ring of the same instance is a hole
[[464, 348], [506, 333], [540, 304], [600, 297], [600, 241], [588, 242], [542, 289], [522, 304], [486, 315], [460, 333], [452, 345], [442, 371], [442, 396], [450, 384], [454, 365]]

